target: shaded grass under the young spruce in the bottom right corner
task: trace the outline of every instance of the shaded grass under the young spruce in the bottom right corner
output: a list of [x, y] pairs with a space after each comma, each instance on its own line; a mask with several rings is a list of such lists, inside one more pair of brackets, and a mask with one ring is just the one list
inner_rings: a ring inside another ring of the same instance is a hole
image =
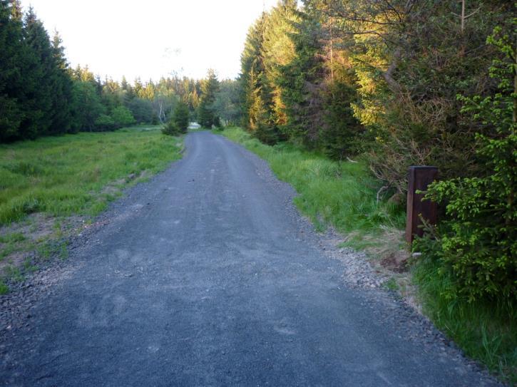
[[454, 278], [440, 275], [441, 267], [424, 257], [413, 269], [424, 312], [465, 354], [486, 364], [503, 381], [517, 384], [517, 313], [511, 304], [469, 302], [445, 296]]

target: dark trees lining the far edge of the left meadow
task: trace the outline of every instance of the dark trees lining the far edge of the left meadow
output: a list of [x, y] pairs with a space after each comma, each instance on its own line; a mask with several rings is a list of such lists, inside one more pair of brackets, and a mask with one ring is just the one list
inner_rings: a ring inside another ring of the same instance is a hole
[[[214, 79], [209, 84], [211, 112], [217, 88]], [[50, 38], [33, 9], [24, 14], [19, 1], [0, 0], [0, 142], [165, 123], [178, 100], [189, 114], [197, 110], [201, 93], [200, 81], [186, 77], [137, 78], [131, 85], [70, 68], [57, 32]]]

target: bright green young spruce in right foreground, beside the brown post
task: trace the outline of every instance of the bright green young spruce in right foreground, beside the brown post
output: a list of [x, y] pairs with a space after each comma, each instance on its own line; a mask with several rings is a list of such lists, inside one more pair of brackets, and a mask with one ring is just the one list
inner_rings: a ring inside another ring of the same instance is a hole
[[[481, 121], [476, 148], [486, 165], [480, 177], [435, 182], [426, 197], [446, 204], [437, 246], [431, 250], [443, 266], [443, 275], [454, 273], [456, 292], [470, 301], [497, 297], [517, 298], [517, 83], [515, 36], [496, 29], [488, 43], [505, 53], [497, 59], [491, 76], [499, 91], [481, 98], [461, 97], [464, 113]], [[419, 248], [418, 245], [416, 248]]]

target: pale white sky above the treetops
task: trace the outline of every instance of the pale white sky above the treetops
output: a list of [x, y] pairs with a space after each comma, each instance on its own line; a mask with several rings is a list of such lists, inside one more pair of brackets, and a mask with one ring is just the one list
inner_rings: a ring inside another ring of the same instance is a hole
[[71, 66], [120, 81], [175, 71], [203, 78], [213, 68], [235, 78], [247, 29], [277, 0], [22, 0], [52, 36], [57, 29]]

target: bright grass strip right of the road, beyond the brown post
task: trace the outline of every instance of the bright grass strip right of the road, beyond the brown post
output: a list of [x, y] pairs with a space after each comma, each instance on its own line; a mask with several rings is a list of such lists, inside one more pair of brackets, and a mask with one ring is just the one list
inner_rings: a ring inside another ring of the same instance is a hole
[[280, 180], [298, 192], [295, 204], [317, 229], [332, 225], [350, 234], [347, 245], [368, 247], [385, 229], [404, 227], [404, 212], [387, 202], [377, 202], [378, 182], [364, 162], [337, 162], [287, 143], [264, 145], [240, 128], [226, 128], [222, 135], [244, 145], [269, 162]]

